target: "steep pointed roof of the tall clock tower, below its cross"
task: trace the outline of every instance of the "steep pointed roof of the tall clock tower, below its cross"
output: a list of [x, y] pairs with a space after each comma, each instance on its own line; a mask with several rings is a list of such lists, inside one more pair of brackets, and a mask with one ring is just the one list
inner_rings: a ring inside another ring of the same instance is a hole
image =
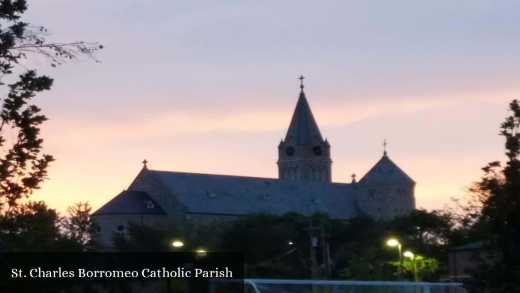
[[314, 119], [313, 112], [310, 111], [309, 103], [305, 97], [305, 93], [300, 93], [291, 124], [285, 135], [285, 142], [291, 142], [296, 145], [310, 144], [312, 142], [322, 142], [321, 132]]

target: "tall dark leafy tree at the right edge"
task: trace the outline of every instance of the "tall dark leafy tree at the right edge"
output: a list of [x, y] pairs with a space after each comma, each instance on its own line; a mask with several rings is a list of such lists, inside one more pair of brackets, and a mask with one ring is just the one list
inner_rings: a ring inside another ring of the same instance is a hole
[[505, 167], [491, 162], [477, 190], [483, 196], [477, 223], [485, 236], [486, 257], [480, 260], [468, 284], [471, 292], [520, 292], [520, 103], [509, 105], [510, 115], [501, 125], [505, 138]]

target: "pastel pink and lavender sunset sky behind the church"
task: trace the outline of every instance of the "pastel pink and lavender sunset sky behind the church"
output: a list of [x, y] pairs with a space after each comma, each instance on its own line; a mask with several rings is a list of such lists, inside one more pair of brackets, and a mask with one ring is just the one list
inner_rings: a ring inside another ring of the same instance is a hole
[[304, 75], [332, 177], [381, 157], [436, 209], [503, 160], [520, 98], [518, 1], [29, 1], [49, 41], [98, 41], [101, 64], [51, 68], [38, 95], [57, 161], [35, 199], [97, 208], [142, 167], [276, 177]]

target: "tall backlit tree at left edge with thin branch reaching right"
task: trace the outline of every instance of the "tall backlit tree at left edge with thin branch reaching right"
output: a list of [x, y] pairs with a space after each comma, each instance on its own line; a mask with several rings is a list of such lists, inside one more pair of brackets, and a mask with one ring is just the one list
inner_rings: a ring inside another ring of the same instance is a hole
[[[7, 87], [0, 111], [0, 213], [7, 215], [22, 212], [20, 200], [40, 187], [49, 163], [54, 160], [53, 156], [41, 153], [40, 126], [47, 118], [31, 104], [38, 92], [51, 88], [53, 79], [38, 76], [35, 70], [27, 70], [16, 78], [12, 76], [14, 70], [24, 69], [17, 65], [28, 54], [43, 56], [56, 66], [67, 60], [95, 59], [94, 54], [102, 48], [97, 43], [48, 43], [45, 28], [20, 20], [26, 10], [25, 0], [0, 1], [0, 86]], [[12, 140], [5, 133], [8, 129], [15, 133]]]

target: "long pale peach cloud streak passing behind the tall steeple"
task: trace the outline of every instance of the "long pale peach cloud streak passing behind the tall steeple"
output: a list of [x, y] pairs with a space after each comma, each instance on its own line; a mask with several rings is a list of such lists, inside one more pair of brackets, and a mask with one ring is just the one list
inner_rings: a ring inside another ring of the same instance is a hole
[[[343, 103], [340, 105], [320, 105], [315, 101], [313, 111], [321, 127], [337, 127], [370, 119], [383, 114], [402, 114], [426, 111], [460, 105], [475, 100], [509, 100], [520, 91], [497, 95], [464, 95], [429, 97], [428, 99], [402, 99], [379, 102]], [[137, 111], [137, 110], [136, 110]], [[46, 126], [51, 137], [67, 137], [68, 144], [92, 145], [100, 142], [119, 140], [139, 140], [162, 136], [176, 136], [194, 133], [256, 133], [283, 131], [289, 125], [292, 108], [272, 108], [267, 106], [237, 107], [187, 111], [172, 109], [162, 111], [158, 116], [150, 113], [148, 118], [132, 123], [120, 121], [77, 121], [52, 119]], [[130, 115], [132, 113], [129, 113]], [[139, 115], [140, 116], [140, 115]], [[59, 135], [58, 135], [58, 133]], [[55, 139], [56, 140], [56, 139]], [[58, 142], [58, 141], [56, 141]], [[58, 143], [63, 143], [59, 140]]]

